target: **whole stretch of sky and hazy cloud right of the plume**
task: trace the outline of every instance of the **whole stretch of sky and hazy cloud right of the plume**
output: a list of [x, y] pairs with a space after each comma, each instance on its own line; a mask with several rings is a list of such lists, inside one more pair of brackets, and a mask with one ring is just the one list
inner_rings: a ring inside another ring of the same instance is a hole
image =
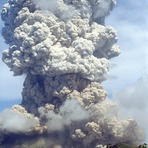
[[118, 30], [121, 54], [111, 60], [116, 66], [110, 67], [111, 77], [104, 82], [109, 97], [119, 103], [122, 116], [136, 119], [145, 133], [148, 133], [147, 7], [146, 0], [120, 0], [108, 17], [107, 24]]

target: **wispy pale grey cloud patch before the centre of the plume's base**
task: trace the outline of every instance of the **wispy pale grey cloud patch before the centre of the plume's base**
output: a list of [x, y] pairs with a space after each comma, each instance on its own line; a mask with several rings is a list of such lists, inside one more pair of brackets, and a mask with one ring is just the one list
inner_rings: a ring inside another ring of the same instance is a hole
[[59, 108], [59, 112], [48, 110], [48, 107], [39, 108], [40, 118], [47, 119], [47, 129], [49, 132], [64, 130], [64, 126], [70, 125], [72, 122], [86, 120], [89, 118], [89, 112], [82, 108], [75, 99], [66, 100]]

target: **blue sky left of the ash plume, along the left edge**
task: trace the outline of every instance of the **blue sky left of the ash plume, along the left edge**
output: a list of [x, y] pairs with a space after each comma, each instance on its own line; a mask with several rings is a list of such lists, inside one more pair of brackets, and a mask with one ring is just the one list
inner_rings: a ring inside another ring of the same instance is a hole
[[[7, 0], [0, 0], [0, 9], [7, 2]], [[0, 31], [3, 22], [0, 20]], [[0, 59], [2, 51], [8, 46], [4, 43], [4, 39], [0, 35]], [[0, 110], [11, 107], [12, 104], [20, 103], [21, 91], [23, 86], [22, 77], [13, 77], [13, 73], [9, 68], [0, 60]]]

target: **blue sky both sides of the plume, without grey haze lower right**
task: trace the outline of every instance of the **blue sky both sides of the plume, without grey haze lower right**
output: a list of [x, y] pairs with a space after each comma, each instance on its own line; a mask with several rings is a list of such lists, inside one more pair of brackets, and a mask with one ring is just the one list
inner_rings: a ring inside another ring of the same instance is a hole
[[[0, 0], [0, 8], [6, 2]], [[127, 86], [134, 87], [137, 79], [148, 73], [147, 8], [147, 0], [117, 0], [114, 11], [106, 18], [106, 24], [118, 31], [118, 44], [121, 47], [121, 55], [111, 60], [110, 78], [103, 83], [109, 96], [125, 93]], [[2, 26], [0, 20], [0, 30]], [[0, 36], [0, 58], [6, 48]], [[9, 68], [0, 61], [0, 110], [21, 101], [23, 81], [23, 77], [13, 77]]]

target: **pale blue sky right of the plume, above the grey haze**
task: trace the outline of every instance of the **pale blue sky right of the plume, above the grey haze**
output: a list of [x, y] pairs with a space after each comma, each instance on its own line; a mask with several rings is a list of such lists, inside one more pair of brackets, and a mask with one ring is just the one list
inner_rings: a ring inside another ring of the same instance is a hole
[[[118, 31], [119, 57], [111, 60], [111, 79], [105, 82], [111, 91], [121, 90], [148, 73], [148, 1], [118, 0], [106, 19]], [[114, 85], [109, 86], [111, 83]]]

